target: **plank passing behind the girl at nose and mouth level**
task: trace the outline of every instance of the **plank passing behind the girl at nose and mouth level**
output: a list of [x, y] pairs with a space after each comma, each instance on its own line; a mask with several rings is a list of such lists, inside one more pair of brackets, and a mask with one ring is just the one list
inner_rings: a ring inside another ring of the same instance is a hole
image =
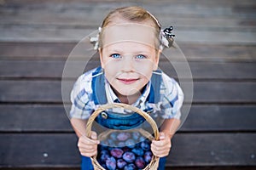
[[[223, 80], [255, 80], [255, 62], [223, 63], [223, 62], [189, 62], [194, 80], [198, 79], [223, 79]], [[65, 61], [63, 60], [0, 60], [1, 78], [58, 78], [61, 79]], [[84, 68], [84, 71], [101, 65], [99, 59], [92, 58], [85, 66], [81, 61], [70, 61], [73, 71]], [[184, 68], [183, 62], [167, 62], [160, 59], [160, 69], [169, 76], [177, 78], [173, 65]], [[69, 75], [75, 78], [77, 75]], [[186, 74], [179, 78], [189, 78]]]

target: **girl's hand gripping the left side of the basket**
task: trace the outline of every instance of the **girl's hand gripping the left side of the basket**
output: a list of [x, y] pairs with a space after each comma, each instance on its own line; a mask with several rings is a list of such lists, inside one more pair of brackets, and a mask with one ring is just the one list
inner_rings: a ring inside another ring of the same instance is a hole
[[100, 144], [100, 141], [97, 140], [96, 132], [91, 132], [90, 138], [82, 135], [78, 143], [79, 151], [82, 156], [96, 156], [98, 144]]

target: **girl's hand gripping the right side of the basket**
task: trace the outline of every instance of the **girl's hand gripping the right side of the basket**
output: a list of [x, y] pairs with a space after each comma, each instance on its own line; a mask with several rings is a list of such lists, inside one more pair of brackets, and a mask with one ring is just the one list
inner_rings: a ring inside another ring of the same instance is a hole
[[165, 133], [160, 133], [160, 140], [153, 140], [151, 150], [154, 156], [168, 156], [171, 150], [171, 139]]

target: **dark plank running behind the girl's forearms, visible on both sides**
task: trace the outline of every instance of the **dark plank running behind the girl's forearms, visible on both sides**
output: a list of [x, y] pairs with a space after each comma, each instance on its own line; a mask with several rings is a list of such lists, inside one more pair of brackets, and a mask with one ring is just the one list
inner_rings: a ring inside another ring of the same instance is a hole
[[[62, 105], [0, 105], [0, 132], [73, 132], [67, 117], [69, 108], [67, 105], [65, 111]], [[255, 113], [255, 105], [192, 105], [178, 132], [255, 132]]]

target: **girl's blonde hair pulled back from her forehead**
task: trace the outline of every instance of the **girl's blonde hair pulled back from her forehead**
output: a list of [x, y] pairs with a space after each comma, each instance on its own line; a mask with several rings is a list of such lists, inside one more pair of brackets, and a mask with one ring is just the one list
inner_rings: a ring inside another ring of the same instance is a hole
[[[116, 17], [120, 17], [121, 19], [132, 21], [132, 22], [139, 22], [142, 23], [143, 21], [151, 21], [154, 27], [154, 34], [156, 37], [156, 48], [160, 46], [160, 24], [156, 18], [150, 14], [147, 10], [137, 6], [131, 7], [123, 7], [123, 8], [116, 8], [111, 11], [106, 18], [102, 22], [102, 29], [108, 26], [110, 23], [114, 22]], [[99, 45], [102, 46], [102, 34], [99, 35]]]

